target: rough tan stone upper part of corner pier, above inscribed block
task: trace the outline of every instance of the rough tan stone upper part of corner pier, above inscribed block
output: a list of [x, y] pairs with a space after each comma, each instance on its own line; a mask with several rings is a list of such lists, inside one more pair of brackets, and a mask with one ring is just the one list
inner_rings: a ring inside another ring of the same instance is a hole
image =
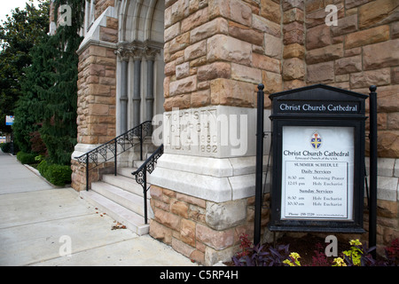
[[254, 107], [262, 81], [282, 91], [278, 2], [166, 1], [165, 110]]

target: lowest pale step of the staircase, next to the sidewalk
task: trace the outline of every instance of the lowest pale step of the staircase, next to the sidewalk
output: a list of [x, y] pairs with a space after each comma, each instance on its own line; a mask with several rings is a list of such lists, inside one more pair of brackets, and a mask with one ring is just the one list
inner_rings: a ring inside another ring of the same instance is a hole
[[121, 206], [120, 204], [111, 201], [105, 196], [91, 190], [82, 191], [80, 193], [82, 198], [93, 206], [98, 208], [98, 211], [105, 212], [109, 217], [120, 222], [123, 225], [138, 235], [147, 234], [150, 230], [150, 225], [145, 224], [144, 217], [137, 213]]

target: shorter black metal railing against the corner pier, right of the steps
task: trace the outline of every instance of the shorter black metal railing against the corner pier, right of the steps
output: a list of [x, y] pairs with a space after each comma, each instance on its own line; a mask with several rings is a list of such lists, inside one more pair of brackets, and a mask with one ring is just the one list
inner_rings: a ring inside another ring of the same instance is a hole
[[160, 156], [163, 154], [163, 144], [155, 150], [155, 152], [134, 172], [131, 174], [136, 177], [136, 181], [143, 187], [144, 196], [144, 213], [145, 213], [145, 224], [148, 223], [147, 217], [147, 171], [151, 174], [155, 169], [155, 163], [158, 161]]

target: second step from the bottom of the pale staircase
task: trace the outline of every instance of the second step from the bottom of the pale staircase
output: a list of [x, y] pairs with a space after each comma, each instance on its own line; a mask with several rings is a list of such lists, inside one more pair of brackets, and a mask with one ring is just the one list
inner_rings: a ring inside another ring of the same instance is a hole
[[[135, 193], [130, 193], [117, 186], [107, 184], [105, 182], [96, 182], [91, 184], [91, 190], [103, 195], [111, 201], [114, 201], [121, 206], [137, 213], [144, 217], [144, 200], [142, 196]], [[153, 217], [150, 201], [147, 199], [148, 217]]]

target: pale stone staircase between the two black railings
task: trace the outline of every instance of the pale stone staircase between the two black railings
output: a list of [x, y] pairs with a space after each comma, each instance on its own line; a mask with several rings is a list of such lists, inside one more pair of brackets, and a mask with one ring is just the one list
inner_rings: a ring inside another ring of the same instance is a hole
[[[117, 176], [103, 175], [100, 181], [91, 184], [90, 191], [80, 193], [83, 199], [98, 208], [98, 212], [106, 213], [138, 235], [148, 233], [150, 228], [145, 224], [143, 187], [131, 174], [143, 162], [133, 162], [135, 168], [119, 168]], [[147, 194], [147, 210], [150, 219], [153, 217], [150, 194]]]

